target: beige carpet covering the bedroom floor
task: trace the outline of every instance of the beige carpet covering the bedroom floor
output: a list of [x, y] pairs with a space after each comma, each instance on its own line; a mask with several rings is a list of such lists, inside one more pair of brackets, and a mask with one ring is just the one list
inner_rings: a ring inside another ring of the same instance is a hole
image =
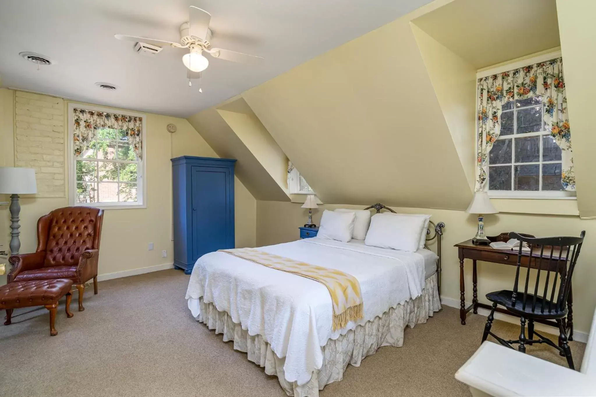
[[[62, 301], [54, 337], [44, 308], [15, 310], [11, 326], [0, 324], [0, 396], [285, 396], [277, 378], [191, 317], [188, 277], [164, 270], [100, 282], [99, 295], [86, 289], [83, 312], [75, 293], [75, 317], [66, 318]], [[402, 348], [381, 348], [349, 366], [321, 397], [470, 395], [454, 374], [479, 346], [485, 320], [470, 315], [461, 326], [458, 311], [446, 307], [406, 329]], [[519, 334], [502, 321], [493, 330]], [[585, 345], [571, 346], [579, 367]], [[565, 363], [548, 346], [527, 351]]]

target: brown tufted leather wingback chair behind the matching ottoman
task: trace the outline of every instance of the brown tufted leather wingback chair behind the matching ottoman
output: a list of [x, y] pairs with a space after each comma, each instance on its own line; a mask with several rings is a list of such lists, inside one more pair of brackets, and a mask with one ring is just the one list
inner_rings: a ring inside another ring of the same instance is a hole
[[97, 295], [97, 261], [104, 211], [94, 207], [64, 207], [38, 220], [38, 247], [32, 254], [8, 259], [7, 282], [70, 279], [79, 290], [83, 307], [85, 283], [93, 279]]

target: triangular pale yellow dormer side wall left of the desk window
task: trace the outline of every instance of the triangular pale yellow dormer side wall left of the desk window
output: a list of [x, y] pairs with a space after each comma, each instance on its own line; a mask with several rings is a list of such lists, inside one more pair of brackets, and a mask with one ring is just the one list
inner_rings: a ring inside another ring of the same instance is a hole
[[470, 189], [476, 182], [476, 68], [411, 24]]

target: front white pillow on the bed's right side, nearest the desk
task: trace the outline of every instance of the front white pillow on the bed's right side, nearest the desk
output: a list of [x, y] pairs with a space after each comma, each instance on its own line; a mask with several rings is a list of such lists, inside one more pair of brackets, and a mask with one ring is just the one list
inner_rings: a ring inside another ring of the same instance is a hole
[[393, 214], [388, 217], [375, 214], [371, 218], [371, 226], [368, 228], [364, 243], [380, 248], [415, 252], [418, 251], [423, 226], [424, 217], [404, 214]]

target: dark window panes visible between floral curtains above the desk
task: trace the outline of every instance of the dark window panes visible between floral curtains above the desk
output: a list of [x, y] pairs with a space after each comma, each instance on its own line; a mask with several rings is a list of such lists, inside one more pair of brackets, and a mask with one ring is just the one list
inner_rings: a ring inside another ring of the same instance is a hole
[[561, 148], [542, 120], [541, 96], [502, 105], [501, 133], [488, 156], [488, 189], [562, 191]]

